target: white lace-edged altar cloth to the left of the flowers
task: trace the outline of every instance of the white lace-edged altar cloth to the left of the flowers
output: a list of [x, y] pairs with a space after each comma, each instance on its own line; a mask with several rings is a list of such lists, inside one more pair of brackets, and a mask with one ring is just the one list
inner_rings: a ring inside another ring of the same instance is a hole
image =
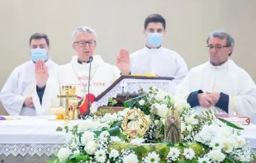
[[[0, 155], [54, 155], [63, 147], [66, 133], [57, 132], [64, 121], [55, 116], [18, 117], [20, 120], [0, 120]], [[71, 126], [79, 120], [70, 120]]]

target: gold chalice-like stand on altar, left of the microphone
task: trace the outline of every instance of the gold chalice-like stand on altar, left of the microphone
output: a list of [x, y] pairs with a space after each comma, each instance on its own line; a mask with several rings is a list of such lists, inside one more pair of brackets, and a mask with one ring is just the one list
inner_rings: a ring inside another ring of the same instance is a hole
[[[74, 119], [77, 117], [78, 111], [77, 108], [73, 109], [73, 113], [69, 114], [69, 100], [77, 99], [77, 95], [75, 95], [76, 86], [61, 86], [61, 95], [57, 95], [59, 99], [65, 99], [65, 115], [64, 115], [64, 125], [69, 125], [69, 119]], [[77, 107], [77, 105], [75, 106]]]

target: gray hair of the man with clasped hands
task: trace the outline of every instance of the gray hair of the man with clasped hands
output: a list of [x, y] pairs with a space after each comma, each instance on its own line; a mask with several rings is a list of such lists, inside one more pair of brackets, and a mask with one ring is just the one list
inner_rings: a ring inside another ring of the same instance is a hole
[[[219, 38], [221, 40], [226, 40], [226, 46], [228, 46], [228, 47], [234, 47], [235, 46], [235, 40], [233, 39], [233, 37], [230, 34], [228, 34], [227, 32], [225, 32], [224, 30], [216, 30], [213, 33], [211, 33], [211, 35], [209, 35], [207, 40], [206, 40], [207, 44], [209, 44], [209, 40], [210, 40], [211, 36]], [[232, 52], [229, 54], [229, 56], [231, 54], [232, 54]]]

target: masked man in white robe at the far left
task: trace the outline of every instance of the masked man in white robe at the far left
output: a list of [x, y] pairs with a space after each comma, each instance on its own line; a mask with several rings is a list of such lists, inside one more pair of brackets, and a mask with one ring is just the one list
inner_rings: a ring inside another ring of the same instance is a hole
[[50, 41], [47, 35], [31, 35], [29, 44], [31, 60], [13, 70], [0, 93], [2, 105], [10, 115], [36, 115], [32, 100], [32, 92], [36, 89], [35, 63], [39, 60], [44, 61], [49, 70], [48, 76], [52, 76], [53, 68], [57, 66], [49, 58]]

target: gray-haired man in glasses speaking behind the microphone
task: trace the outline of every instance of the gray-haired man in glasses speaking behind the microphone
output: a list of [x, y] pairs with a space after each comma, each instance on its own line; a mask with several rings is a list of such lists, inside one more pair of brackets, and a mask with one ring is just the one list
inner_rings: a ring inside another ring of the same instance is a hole
[[[47, 73], [45, 63], [36, 64], [37, 91], [34, 93], [33, 101], [37, 115], [52, 114], [50, 106], [65, 105], [64, 100], [57, 99], [57, 95], [61, 93], [61, 86], [76, 86], [76, 95], [85, 99], [100, 95], [120, 77], [121, 72], [116, 66], [105, 63], [100, 55], [94, 55], [97, 46], [96, 37], [95, 31], [87, 26], [79, 26], [73, 31], [72, 46], [77, 55], [73, 56], [70, 63], [56, 68], [55, 80], [48, 80], [45, 76]], [[90, 85], [88, 85], [89, 80]], [[88, 95], [88, 86], [92, 95]], [[87, 105], [83, 106], [87, 107]]]

